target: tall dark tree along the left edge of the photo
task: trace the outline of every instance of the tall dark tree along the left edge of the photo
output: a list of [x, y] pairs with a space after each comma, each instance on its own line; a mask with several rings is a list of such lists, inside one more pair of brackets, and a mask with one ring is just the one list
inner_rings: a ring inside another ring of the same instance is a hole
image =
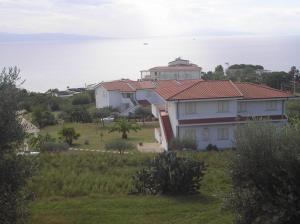
[[29, 158], [17, 155], [24, 131], [17, 117], [19, 69], [0, 73], [0, 223], [21, 223], [26, 218], [27, 195], [22, 189], [33, 170]]

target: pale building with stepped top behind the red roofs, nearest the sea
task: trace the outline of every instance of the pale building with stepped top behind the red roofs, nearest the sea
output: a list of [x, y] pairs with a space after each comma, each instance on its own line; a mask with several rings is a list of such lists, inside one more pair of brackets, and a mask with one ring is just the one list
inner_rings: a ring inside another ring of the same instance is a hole
[[188, 60], [176, 58], [168, 66], [158, 66], [141, 71], [143, 80], [201, 79], [202, 68]]

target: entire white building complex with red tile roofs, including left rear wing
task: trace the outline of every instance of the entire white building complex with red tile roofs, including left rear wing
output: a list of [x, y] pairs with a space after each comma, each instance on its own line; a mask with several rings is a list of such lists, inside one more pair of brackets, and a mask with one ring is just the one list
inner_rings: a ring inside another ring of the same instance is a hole
[[289, 92], [265, 85], [230, 80], [123, 79], [96, 88], [97, 108], [112, 106], [129, 113], [151, 105], [160, 124], [156, 140], [166, 150], [172, 138], [192, 138], [199, 149], [209, 144], [231, 148], [237, 125], [249, 120], [284, 125], [285, 104], [291, 97]]

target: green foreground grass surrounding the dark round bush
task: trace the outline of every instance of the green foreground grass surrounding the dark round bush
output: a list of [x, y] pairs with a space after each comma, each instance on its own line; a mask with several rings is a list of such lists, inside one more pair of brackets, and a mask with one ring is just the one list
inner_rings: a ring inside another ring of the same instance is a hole
[[222, 200], [230, 189], [225, 169], [233, 153], [183, 153], [208, 165], [200, 194], [189, 197], [128, 194], [132, 175], [154, 154], [40, 155], [40, 171], [28, 185], [36, 196], [30, 204], [32, 216], [28, 223], [232, 223], [233, 214], [222, 210]]

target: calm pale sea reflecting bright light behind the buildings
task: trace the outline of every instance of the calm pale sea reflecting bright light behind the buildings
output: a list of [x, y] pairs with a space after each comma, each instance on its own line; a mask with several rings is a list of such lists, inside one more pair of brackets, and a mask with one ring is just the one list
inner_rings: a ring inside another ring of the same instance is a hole
[[[148, 45], [143, 43], [147, 42]], [[24, 87], [80, 87], [85, 83], [137, 79], [139, 71], [181, 56], [204, 71], [226, 62], [261, 64], [270, 70], [300, 67], [300, 37], [108, 39], [75, 43], [0, 43], [0, 67], [17, 65]]]

